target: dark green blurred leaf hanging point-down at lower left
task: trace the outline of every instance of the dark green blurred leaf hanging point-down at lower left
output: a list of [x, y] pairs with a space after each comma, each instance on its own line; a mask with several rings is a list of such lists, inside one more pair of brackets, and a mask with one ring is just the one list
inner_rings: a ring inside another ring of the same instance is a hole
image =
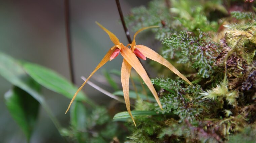
[[38, 114], [38, 101], [18, 87], [6, 92], [4, 97], [7, 109], [29, 142]]

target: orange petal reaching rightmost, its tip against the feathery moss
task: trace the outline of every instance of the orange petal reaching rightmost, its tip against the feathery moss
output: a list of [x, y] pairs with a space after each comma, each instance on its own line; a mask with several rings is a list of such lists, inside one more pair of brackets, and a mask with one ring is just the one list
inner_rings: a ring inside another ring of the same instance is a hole
[[139, 48], [140, 52], [144, 56], [166, 66], [172, 72], [177, 74], [180, 78], [182, 78], [183, 80], [187, 81], [190, 85], [192, 85], [192, 83], [183, 74], [181, 74], [169, 61], [167, 61], [164, 57], [159, 55], [157, 52], [155, 52], [154, 50], [144, 45], [136, 45], [135, 47]]

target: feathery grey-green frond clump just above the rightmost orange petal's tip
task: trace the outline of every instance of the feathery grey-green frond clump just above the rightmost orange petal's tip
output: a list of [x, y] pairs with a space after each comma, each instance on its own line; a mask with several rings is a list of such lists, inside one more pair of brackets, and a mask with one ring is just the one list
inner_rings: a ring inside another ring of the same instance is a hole
[[197, 32], [198, 36], [182, 31], [165, 38], [162, 44], [168, 47], [165, 47], [162, 53], [165, 57], [175, 58], [178, 63], [196, 69], [199, 76], [208, 78], [214, 73], [213, 64], [219, 54], [219, 46], [211, 41], [206, 33], [199, 29]]

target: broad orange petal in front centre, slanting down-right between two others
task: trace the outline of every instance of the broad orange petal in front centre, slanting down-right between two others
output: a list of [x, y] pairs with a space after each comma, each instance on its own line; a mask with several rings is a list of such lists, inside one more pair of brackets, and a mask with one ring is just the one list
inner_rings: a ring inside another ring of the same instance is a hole
[[141, 63], [139, 62], [139, 59], [134, 55], [134, 53], [131, 51], [131, 49], [129, 49], [128, 47], [123, 46], [121, 51], [120, 51], [121, 55], [124, 57], [124, 59], [136, 70], [136, 72], [140, 75], [140, 77], [143, 79], [143, 81], [145, 82], [145, 84], [148, 86], [149, 90], [151, 91], [151, 93], [153, 94], [153, 96], [155, 97], [158, 105], [160, 106], [160, 108], [162, 109], [162, 105], [159, 101], [159, 98], [157, 96], [156, 90], [154, 88], [154, 86], [152, 85], [149, 76], [147, 75], [145, 69], [143, 68], [143, 66], [141, 65]]

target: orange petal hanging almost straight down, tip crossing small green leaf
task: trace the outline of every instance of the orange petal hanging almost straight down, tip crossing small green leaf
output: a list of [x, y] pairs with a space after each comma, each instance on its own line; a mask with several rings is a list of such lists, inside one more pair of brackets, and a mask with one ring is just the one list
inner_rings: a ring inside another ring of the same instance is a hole
[[136, 123], [132, 117], [132, 113], [130, 109], [130, 98], [129, 98], [129, 79], [130, 79], [131, 69], [132, 69], [132, 66], [124, 59], [122, 63], [122, 68], [121, 68], [121, 83], [122, 83], [123, 92], [124, 92], [124, 100], [125, 100], [126, 109], [130, 114], [134, 125], [136, 126]]

